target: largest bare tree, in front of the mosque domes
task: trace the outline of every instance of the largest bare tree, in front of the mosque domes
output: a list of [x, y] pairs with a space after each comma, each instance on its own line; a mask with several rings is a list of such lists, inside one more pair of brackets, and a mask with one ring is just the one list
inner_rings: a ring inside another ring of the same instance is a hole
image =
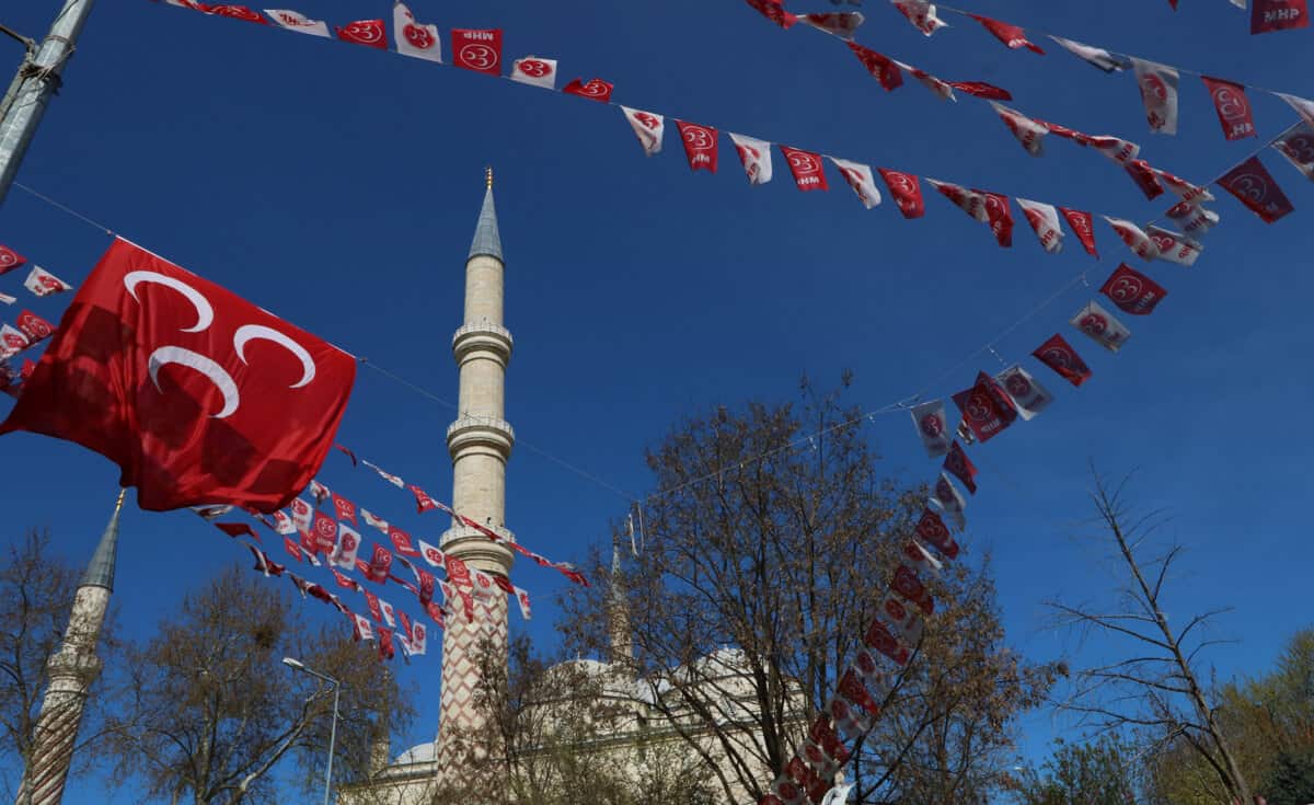
[[[848, 379], [846, 379], [848, 380]], [[728, 801], [758, 798], [836, 691], [888, 589], [926, 489], [880, 472], [840, 392], [719, 409], [648, 454], [646, 549], [619, 587], [572, 591], [568, 643], [603, 654]], [[602, 556], [595, 575], [606, 577]], [[1054, 668], [1003, 643], [988, 567], [930, 580], [937, 614], [853, 763], [859, 801], [976, 801], [1014, 717]], [[628, 637], [629, 639], [624, 639]], [[920, 793], [917, 793], [920, 792]], [[916, 793], [916, 796], [913, 796]], [[957, 798], [955, 798], [957, 797]]]

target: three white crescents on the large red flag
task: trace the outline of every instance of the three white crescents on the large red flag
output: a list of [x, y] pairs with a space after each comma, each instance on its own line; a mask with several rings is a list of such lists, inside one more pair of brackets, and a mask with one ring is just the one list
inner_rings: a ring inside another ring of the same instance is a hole
[[[210, 305], [210, 301], [205, 297], [205, 295], [192, 285], [156, 271], [130, 271], [124, 275], [124, 288], [127, 289], [127, 293], [138, 304], [141, 304], [138, 287], [142, 284], [163, 285], [176, 291], [192, 303], [192, 306], [196, 309], [196, 324], [189, 328], [181, 328], [183, 333], [202, 333], [208, 330], [212, 324], [214, 324], [214, 308]], [[246, 358], [246, 347], [252, 341], [269, 341], [272, 343], [277, 343], [286, 351], [292, 353], [292, 355], [301, 362], [301, 379], [288, 388], [304, 388], [315, 379], [315, 362], [310, 356], [310, 353], [307, 353], [304, 346], [289, 338], [286, 334], [264, 325], [243, 325], [233, 334], [233, 349], [243, 364], [250, 366], [250, 362]], [[201, 375], [205, 375], [205, 378], [210, 380], [214, 388], [217, 388], [223, 396], [223, 408], [219, 413], [212, 414], [210, 418], [225, 420], [237, 413], [238, 408], [242, 405], [242, 396], [233, 375], [230, 375], [227, 370], [219, 366], [213, 358], [181, 346], [162, 346], [150, 354], [150, 358], [147, 359], [147, 368], [150, 371], [151, 383], [155, 384], [156, 391], [163, 391], [159, 383], [160, 368], [171, 363], [185, 366], [200, 372]]]

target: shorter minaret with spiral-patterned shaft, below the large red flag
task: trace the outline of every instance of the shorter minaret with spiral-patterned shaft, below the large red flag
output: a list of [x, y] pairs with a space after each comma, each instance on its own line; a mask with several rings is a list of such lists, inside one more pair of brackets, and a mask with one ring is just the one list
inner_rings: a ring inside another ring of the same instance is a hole
[[87, 689], [101, 668], [96, 642], [109, 609], [109, 593], [114, 589], [118, 513], [122, 508], [124, 491], [118, 493], [114, 514], [78, 585], [64, 642], [46, 663], [50, 683], [37, 717], [32, 756], [14, 800], [17, 805], [55, 805], [63, 800]]

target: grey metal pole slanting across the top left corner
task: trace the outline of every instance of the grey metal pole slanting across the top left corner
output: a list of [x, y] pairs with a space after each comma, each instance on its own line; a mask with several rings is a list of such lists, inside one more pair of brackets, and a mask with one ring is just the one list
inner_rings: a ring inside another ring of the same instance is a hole
[[4, 204], [28, 153], [46, 104], [59, 89], [60, 72], [72, 57], [95, 0], [64, 0], [37, 55], [28, 55], [14, 78], [12, 103], [0, 117], [0, 204]]

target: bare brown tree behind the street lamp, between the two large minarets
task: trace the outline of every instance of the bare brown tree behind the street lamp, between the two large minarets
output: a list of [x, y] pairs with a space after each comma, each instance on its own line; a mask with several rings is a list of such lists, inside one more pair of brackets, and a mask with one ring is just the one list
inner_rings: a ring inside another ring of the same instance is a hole
[[342, 681], [335, 776], [364, 777], [374, 742], [411, 710], [368, 645], [342, 635], [307, 629], [265, 579], [223, 572], [129, 648], [110, 734], [117, 779], [139, 776], [143, 800], [172, 805], [276, 802], [272, 772], [292, 755], [318, 785], [332, 692], [284, 668], [284, 656]]

